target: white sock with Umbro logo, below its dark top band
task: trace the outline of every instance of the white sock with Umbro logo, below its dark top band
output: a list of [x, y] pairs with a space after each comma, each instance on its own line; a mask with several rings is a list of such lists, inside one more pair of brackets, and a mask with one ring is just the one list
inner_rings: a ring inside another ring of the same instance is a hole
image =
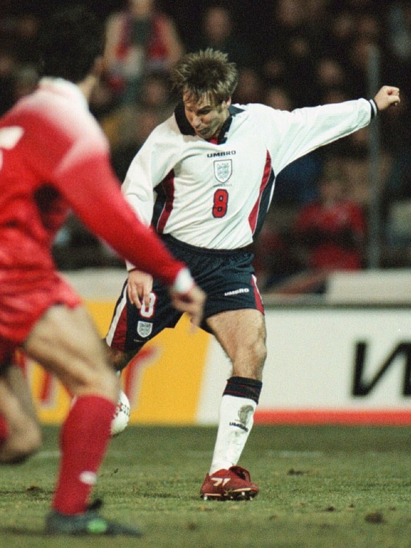
[[256, 402], [249, 398], [227, 394], [222, 396], [210, 474], [238, 463], [253, 427], [256, 407]]

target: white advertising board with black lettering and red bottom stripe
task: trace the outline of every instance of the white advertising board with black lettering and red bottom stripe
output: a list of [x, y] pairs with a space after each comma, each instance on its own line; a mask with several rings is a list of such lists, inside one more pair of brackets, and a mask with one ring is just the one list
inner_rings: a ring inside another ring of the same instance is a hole
[[[268, 357], [256, 420], [411, 424], [411, 314], [404, 307], [266, 311]], [[230, 364], [215, 341], [198, 422], [215, 423]]]

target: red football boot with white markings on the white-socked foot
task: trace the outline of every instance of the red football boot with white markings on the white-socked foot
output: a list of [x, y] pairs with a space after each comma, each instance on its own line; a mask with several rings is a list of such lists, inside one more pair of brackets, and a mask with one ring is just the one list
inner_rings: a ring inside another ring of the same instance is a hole
[[207, 474], [200, 496], [205, 501], [249, 501], [257, 493], [258, 487], [251, 482], [249, 471], [241, 466], [232, 466], [228, 470]]

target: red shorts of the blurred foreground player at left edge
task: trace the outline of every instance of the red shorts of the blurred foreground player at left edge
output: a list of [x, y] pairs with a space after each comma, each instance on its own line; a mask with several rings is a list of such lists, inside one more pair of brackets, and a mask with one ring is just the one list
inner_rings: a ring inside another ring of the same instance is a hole
[[78, 294], [58, 273], [14, 271], [0, 275], [0, 365], [55, 304], [70, 308], [81, 304]]

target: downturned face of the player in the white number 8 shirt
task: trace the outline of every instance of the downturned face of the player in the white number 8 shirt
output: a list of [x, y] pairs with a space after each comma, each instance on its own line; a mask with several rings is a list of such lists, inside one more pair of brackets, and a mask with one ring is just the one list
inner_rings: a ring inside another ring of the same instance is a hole
[[222, 125], [229, 116], [231, 100], [215, 105], [213, 98], [203, 95], [200, 99], [185, 93], [183, 95], [186, 118], [198, 137], [210, 139], [218, 136]]

